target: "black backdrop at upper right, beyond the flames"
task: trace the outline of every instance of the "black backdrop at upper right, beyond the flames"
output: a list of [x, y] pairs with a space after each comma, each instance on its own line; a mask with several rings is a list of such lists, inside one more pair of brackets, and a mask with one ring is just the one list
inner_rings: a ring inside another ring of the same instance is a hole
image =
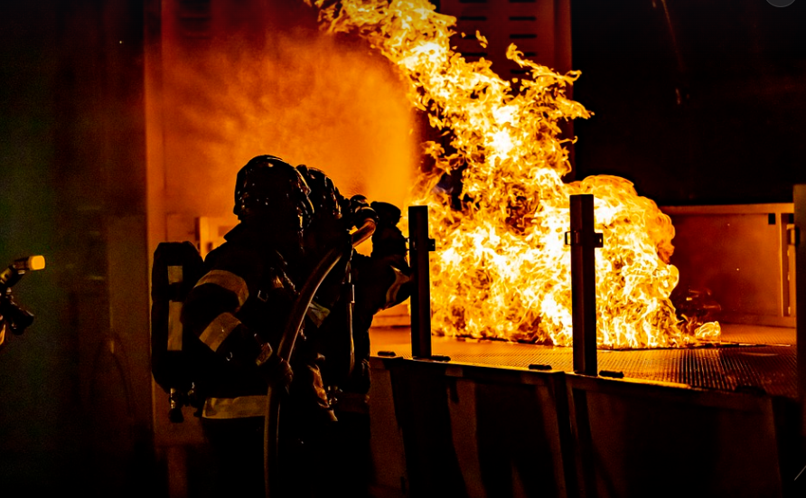
[[806, 2], [571, 8], [574, 99], [595, 113], [575, 122], [576, 179], [623, 176], [661, 205], [792, 202], [806, 182]]

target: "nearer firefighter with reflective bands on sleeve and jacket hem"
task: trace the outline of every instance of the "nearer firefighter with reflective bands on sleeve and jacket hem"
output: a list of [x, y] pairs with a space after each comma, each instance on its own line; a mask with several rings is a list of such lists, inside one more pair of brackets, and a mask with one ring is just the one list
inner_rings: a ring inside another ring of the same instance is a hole
[[251, 159], [236, 178], [239, 224], [205, 258], [202, 277], [183, 304], [183, 341], [202, 399], [201, 428], [220, 492], [227, 495], [265, 495], [262, 433], [270, 382], [288, 393], [280, 446], [287, 468], [280, 475], [294, 491], [284, 494], [305, 496], [300, 473], [317, 465], [317, 437], [335, 419], [322, 355], [305, 330], [290, 365], [275, 353], [303, 285], [303, 233], [314, 215], [309, 193], [291, 164], [273, 155]]

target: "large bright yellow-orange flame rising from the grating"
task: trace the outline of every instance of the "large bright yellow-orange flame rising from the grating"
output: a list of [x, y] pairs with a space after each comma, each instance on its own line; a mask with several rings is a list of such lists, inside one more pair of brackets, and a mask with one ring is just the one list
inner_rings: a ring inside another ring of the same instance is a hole
[[[433, 167], [415, 204], [427, 204], [433, 328], [438, 334], [567, 345], [571, 342], [568, 196], [595, 196], [597, 343], [600, 347], [680, 346], [719, 336], [716, 323], [693, 327], [676, 316], [669, 264], [674, 229], [655, 202], [615, 176], [563, 183], [570, 171], [560, 138], [564, 119], [588, 117], [565, 90], [579, 76], [507, 57], [530, 78], [501, 80], [491, 62], [451, 50], [455, 18], [426, 0], [343, 0], [323, 6], [331, 33], [360, 33], [397, 64], [411, 103], [450, 143], [426, 143]], [[486, 42], [481, 33], [477, 39]], [[518, 89], [513, 89], [517, 84]], [[461, 174], [461, 197], [445, 183]]]

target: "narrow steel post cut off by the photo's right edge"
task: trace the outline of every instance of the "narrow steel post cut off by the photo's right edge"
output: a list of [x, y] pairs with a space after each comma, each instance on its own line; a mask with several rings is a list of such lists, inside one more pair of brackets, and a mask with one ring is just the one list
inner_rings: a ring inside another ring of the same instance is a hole
[[798, 394], [803, 407], [801, 432], [806, 436], [806, 184], [795, 185], [794, 229], [790, 243], [795, 249], [795, 336], [797, 342]]

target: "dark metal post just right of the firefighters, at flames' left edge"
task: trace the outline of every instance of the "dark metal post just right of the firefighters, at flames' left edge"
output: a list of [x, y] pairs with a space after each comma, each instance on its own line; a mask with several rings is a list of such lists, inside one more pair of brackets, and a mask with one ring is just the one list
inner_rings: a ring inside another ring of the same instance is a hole
[[411, 355], [431, 357], [431, 277], [428, 253], [434, 240], [428, 238], [428, 206], [408, 207], [408, 245], [411, 263]]

